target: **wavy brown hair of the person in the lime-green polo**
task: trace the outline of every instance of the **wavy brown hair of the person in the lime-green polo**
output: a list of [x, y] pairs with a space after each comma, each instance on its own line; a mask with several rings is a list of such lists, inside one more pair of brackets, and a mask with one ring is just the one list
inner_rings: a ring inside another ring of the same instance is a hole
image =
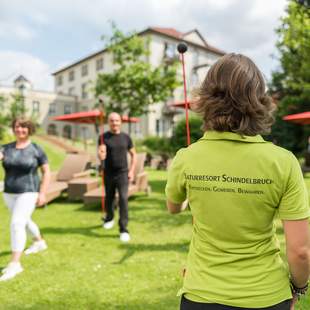
[[202, 115], [204, 130], [255, 136], [269, 133], [274, 122], [275, 105], [263, 75], [240, 54], [226, 54], [212, 65], [192, 108]]

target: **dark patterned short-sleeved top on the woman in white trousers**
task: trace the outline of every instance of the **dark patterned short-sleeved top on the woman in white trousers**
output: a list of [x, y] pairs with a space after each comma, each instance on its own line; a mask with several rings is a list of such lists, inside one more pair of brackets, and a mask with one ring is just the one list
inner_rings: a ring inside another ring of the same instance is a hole
[[0, 148], [5, 170], [4, 192], [12, 194], [39, 192], [38, 167], [47, 163], [44, 151], [35, 143], [23, 149], [16, 148], [16, 142]]

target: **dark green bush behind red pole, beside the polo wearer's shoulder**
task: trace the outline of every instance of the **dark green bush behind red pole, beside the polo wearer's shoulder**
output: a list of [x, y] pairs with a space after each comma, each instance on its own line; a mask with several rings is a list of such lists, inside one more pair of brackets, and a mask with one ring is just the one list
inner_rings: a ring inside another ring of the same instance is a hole
[[[201, 118], [191, 116], [189, 118], [189, 128], [191, 143], [194, 143], [203, 135]], [[182, 119], [176, 124], [171, 137], [171, 147], [174, 153], [180, 148], [187, 146], [186, 137], [186, 121]]]

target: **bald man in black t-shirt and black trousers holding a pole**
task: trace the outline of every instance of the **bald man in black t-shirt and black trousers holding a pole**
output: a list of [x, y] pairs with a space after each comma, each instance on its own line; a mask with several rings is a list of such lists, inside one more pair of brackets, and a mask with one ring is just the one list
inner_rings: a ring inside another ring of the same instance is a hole
[[[118, 113], [111, 113], [108, 117], [110, 131], [103, 134], [103, 143], [99, 137], [99, 158], [105, 160], [105, 207], [106, 218], [103, 223], [105, 229], [114, 226], [113, 201], [116, 190], [119, 196], [119, 229], [120, 240], [128, 242], [130, 235], [128, 224], [128, 183], [134, 178], [136, 165], [136, 151], [131, 138], [121, 132], [121, 117]], [[127, 153], [130, 154], [130, 167], [128, 169]]]

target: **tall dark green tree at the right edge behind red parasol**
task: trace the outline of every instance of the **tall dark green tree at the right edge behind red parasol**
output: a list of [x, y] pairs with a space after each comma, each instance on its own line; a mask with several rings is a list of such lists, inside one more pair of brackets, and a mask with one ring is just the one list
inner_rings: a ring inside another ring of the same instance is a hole
[[304, 149], [308, 126], [282, 121], [286, 114], [310, 111], [310, 10], [309, 1], [290, 0], [287, 15], [276, 30], [280, 70], [273, 72], [270, 90], [279, 97], [278, 115], [271, 139], [300, 152]]

